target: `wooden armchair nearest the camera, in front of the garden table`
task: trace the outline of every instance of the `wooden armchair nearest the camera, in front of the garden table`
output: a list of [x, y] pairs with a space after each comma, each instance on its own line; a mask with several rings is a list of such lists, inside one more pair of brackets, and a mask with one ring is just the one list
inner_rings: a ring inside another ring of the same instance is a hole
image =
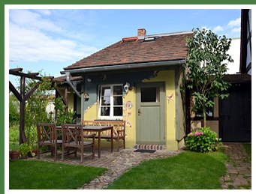
[[64, 160], [65, 148], [74, 148], [73, 153], [77, 157], [77, 149], [81, 152], [81, 163], [83, 163], [84, 148], [92, 148], [92, 159], [95, 159], [95, 134], [86, 138], [92, 139], [91, 142], [84, 141], [83, 125], [80, 124], [62, 124], [62, 161]]

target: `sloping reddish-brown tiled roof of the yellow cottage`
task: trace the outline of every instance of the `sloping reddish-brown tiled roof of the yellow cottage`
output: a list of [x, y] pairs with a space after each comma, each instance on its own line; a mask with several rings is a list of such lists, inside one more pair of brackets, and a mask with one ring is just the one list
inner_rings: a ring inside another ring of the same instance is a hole
[[119, 42], [65, 67], [64, 70], [182, 60], [187, 57], [188, 52], [186, 38], [192, 36], [192, 32], [188, 32], [164, 34], [163, 36], [159, 34], [159, 36], [155, 35], [155, 40], [152, 40], [150, 36], [146, 36], [148, 40], [137, 37], [123, 38]]

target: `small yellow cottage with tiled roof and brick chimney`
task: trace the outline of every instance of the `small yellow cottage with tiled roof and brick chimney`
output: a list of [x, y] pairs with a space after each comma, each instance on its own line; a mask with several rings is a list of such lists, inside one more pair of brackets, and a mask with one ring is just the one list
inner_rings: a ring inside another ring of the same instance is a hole
[[[78, 122], [125, 120], [126, 148], [184, 145], [185, 95], [180, 89], [191, 31], [125, 37], [64, 68], [66, 97]], [[108, 145], [108, 144], [106, 144]]]

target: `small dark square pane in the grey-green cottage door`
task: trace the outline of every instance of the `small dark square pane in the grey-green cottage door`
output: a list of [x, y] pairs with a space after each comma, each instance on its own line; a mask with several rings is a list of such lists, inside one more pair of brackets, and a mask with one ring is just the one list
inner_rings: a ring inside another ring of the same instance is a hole
[[159, 88], [141, 88], [140, 94], [142, 103], [159, 102], [160, 100]]

